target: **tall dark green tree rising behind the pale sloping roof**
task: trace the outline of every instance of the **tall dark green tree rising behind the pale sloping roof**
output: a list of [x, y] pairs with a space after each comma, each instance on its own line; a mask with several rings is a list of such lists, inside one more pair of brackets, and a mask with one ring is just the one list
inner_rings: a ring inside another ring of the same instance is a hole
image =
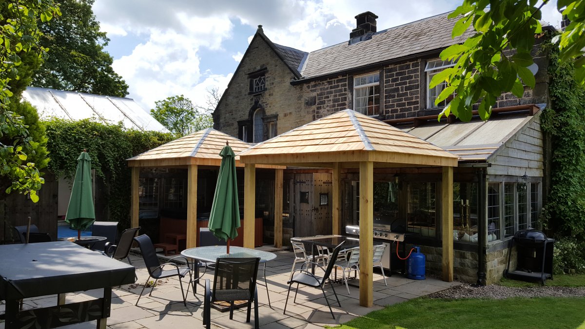
[[33, 77], [35, 87], [125, 97], [128, 85], [112, 68], [104, 51], [109, 39], [99, 31], [94, 0], [63, 0], [63, 15], [39, 25], [40, 44], [49, 56]]

